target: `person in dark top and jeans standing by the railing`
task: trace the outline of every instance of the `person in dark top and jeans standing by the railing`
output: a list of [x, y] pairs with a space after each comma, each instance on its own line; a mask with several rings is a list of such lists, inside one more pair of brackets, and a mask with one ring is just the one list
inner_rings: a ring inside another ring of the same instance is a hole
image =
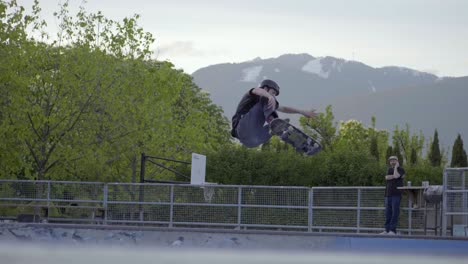
[[391, 156], [388, 158], [390, 168], [385, 176], [385, 231], [381, 234], [395, 235], [400, 216], [401, 190], [403, 186], [405, 170], [400, 167], [398, 158]]

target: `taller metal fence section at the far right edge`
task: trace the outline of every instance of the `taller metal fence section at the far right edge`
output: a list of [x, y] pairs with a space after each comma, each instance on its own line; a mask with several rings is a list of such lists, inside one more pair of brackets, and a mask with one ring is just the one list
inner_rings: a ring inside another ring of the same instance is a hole
[[442, 232], [468, 236], [468, 168], [445, 169], [442, 201]]

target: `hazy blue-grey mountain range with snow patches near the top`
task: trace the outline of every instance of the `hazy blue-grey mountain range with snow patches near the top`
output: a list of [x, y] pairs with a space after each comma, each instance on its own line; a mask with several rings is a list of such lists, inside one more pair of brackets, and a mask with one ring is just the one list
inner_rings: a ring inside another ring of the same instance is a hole
[[356, 119], [369, 125], [375, 116], [379, 129], [391, 131], [408, 123], [426, 137], [438, 129], [445, 149], [457, 133], [468, 136], [468, 77], [442, 78], [405, 67], [374, 68], [309, 54], [211, 65], [192, 76], [228, 118], [249, 88], [269, 78], [280, 85], [278, 101], [283, 105], [319, 111], [332, 105], [336, 120]]

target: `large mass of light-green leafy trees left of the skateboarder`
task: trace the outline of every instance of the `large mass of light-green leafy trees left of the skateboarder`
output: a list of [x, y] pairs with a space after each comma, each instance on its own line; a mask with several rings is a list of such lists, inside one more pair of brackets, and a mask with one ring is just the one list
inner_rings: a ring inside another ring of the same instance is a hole
[[138, 16], [70, 15], [65, 2], [57, 37], [39, 41], [27, 34], [44, 31], [38, 3], [24, 10], [0, 2], [1, 177], [129, 181], [141, 152], [187, 159], [231, 144], [192, 77], [150, 59]]

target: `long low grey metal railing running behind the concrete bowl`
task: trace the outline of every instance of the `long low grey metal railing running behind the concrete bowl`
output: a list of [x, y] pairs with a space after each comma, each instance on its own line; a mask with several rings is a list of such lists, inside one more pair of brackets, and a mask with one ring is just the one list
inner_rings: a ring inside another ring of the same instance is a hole
[[[385, 223], [384, 191], [0, 180], [0, 216], [93, 225], [375, 233]], [[399, 231], [424, 232], [424, 208], [413, 208], [406, 196]]]

